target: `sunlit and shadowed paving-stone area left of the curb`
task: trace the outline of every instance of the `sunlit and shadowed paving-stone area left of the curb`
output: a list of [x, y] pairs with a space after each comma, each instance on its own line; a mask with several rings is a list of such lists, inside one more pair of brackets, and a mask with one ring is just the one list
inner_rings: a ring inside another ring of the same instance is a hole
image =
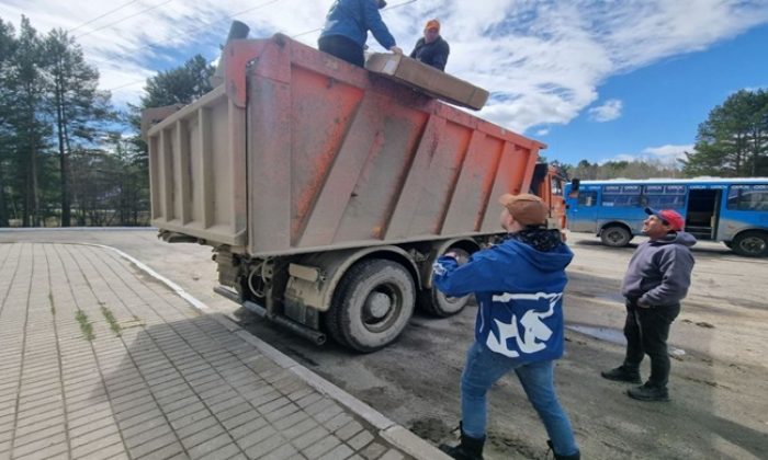
[[0, 244], [1, 459], [405, 459], [117, 253]]

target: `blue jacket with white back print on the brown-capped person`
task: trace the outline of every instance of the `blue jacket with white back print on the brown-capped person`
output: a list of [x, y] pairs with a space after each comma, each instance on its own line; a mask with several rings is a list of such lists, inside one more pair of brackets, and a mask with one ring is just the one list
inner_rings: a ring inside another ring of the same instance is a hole
[[563, 243], [539, 251], [510, 238], [461, 266], [440, 257], [433, 280], [448, 296], [475, 294], [478, 343], [523, 363], [552, 360], [563, 355], [565, 267], [573, 256]]

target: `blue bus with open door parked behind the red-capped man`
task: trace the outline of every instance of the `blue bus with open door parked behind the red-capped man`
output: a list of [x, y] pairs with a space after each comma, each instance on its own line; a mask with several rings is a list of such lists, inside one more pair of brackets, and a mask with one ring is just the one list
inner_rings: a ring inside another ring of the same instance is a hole
[[641, 234], [645, 207], [675, 209], [698, 240], [722, 241], [741, 255], [768, 255], [768, 179], [579, 181], [565, 185], [571, 231], [624, 246]]

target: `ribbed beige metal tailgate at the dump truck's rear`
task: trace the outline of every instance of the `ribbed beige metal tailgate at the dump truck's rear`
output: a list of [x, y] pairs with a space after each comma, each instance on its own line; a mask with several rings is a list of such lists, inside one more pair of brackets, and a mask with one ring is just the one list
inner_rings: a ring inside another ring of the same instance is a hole
[[221, 87], [149, 129], [153, 225], [246, 242], [245, 110]]

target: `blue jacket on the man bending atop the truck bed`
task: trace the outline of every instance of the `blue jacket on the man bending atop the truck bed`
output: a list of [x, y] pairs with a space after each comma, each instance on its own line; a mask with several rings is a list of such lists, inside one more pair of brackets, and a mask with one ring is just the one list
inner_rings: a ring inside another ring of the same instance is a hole
[[382, 21], [376, 0], [336, 0], [328, 11], [320, 38], [341, 35], [363, 46], [368, 31], [371, 31], [384, 49], [396, 45], [395, 38]]

